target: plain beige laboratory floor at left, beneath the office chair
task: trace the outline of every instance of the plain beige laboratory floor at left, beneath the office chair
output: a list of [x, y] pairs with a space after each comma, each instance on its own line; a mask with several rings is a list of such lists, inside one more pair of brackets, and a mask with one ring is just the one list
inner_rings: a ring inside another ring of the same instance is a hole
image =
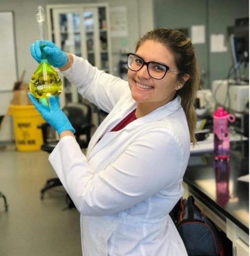
[[54, 188], [40, 199], [48, 178], [55, 177], [43, 151], [18, 152], [13, 145], [0, 148], [1, 256], [80, 256], [80, 214], [63, 210], [66, 192]]

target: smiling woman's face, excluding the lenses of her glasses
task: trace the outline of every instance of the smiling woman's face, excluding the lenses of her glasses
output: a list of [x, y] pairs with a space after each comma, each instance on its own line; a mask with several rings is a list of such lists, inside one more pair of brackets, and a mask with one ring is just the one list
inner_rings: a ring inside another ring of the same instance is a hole
[[[147, 40], [138, 48], [137, 55], [145, 62], [155, 61], [177, 70], [173, 54], [161, 43]], [[178, 70], [177, 70], [178, 72]], [[151, 111], [170, 102], [175, 96], [177, 86], [182, 84], [177, 80], [177, 74], [167, 71], [165, 76], [158, 80], [148, 74], [144, 65], [139, 71], [128, 70], [128, 83], [133, 99]], [[141, 88], [143, 85], [147, 88]]]

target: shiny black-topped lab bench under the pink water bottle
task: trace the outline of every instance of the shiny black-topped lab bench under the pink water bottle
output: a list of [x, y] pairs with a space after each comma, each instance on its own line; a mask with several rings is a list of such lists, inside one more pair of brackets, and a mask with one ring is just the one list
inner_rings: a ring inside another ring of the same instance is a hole
[[233, 255], [249, 255], [249, 141], [231, 142], [230, 159], [213, 152], [190, 155], [184, 175], [184, 198], [193, 195], [202, 212], [221, 229]]

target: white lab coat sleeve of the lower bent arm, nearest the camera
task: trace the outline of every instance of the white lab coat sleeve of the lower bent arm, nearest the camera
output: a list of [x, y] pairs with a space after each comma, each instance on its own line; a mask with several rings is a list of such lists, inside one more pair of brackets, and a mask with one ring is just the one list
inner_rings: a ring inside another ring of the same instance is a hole
[[78, 211], [86, 216], [131, 208], [163, 188], [171, 192], [182, 182], [186, 167], [178, 139], [166, 130], [139, 135], [98, 173], [70, 136], [60, 140], [49, 161]]

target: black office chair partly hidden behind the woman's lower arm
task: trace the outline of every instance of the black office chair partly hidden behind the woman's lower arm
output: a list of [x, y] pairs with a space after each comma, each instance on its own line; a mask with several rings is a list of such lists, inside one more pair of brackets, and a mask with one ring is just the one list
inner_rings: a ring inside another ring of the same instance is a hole
[[[75, 128], [75, 138], [80, 145], [81, 149], [87, 148], [88, 143], [91, 137], [91, 128], [94, 126], [92, 124], [92, 109], [86, 103], [70, 103], [66, 107], [63, 108], [63, 112], [65, 112], [66, 116], [70, 120], [70, 123]], [[48, 140], [48, 123], [43, 123], [37, 126], [42, 129], [43, 134], [43, 145], [41, 149], [51, 153], [54, 147], [58, 144], [58, 140], [49, 141]], [[84, 135], [84, 139], [82, 138]], [[44, 193], [56, 186], [61, 186], [59, 178], [51, 178], [47, 180], [43, 189], [41, 189], [41, 199], [44, 198]], [[72, 200], [69, 195], [66, 196], [66, 201], [68, 202], [68, 207], [74, 207]]]

